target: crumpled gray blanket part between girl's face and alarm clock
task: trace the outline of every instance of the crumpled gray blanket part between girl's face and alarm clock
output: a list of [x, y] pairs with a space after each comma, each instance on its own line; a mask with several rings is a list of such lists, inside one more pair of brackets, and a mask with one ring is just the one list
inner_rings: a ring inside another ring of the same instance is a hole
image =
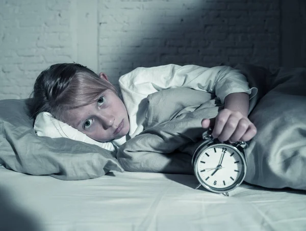
[[203, 115], [214, 118], [223, 107], [212, 97], [187, 88], [149, 95], [145, 131], [119, 148], [121, 166], [128, 171], [191, 174], [191, 156], [203, 133]]

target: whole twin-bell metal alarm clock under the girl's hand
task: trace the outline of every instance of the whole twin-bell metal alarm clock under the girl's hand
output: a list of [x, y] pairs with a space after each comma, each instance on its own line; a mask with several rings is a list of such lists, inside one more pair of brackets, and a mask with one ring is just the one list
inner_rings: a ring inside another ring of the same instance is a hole
[[228, 196], [244, 180], [247, 170], [245, 148], [247, 143], [220, 142], [214, 139], [212, 130], [202, 134], [203, 142], [192, 157], [192, 167], [200, 186], [214, 193]]

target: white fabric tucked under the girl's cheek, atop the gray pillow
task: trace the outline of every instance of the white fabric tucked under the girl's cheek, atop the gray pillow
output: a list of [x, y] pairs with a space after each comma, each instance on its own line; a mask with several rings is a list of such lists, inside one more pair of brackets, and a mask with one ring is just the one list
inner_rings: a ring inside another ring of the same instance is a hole
[[48, 112], [41, 112], [37, 115], [34, 122], [34, 131], [37, 136], [47, 136], [50, 138], [69, 138], [72, 140], [82, 141], [88, 144], [95, 144], [101, 148], [115, 151], [116, 147], [111, 142], [98, 142], [84, 133], [74, 129], [67, 123], [57, 120]]

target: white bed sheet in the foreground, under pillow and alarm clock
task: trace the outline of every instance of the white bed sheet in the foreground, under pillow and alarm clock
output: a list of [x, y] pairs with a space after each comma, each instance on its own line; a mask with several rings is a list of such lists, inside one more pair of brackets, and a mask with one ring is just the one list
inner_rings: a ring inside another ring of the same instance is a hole
[[304, 192], [242, 185], [225, 197], [196, 185], [190, 175], [60, 181], [0, 168], [0, 230], [306, 230]]

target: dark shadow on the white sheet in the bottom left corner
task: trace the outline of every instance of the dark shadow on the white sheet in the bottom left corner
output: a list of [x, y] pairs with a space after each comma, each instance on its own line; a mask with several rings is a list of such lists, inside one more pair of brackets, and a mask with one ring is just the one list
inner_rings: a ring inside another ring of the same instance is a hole
[[0, 188], [0, 230], [3, 231], [41, 231], [35, 218], [12, 202], [10, 193]]

